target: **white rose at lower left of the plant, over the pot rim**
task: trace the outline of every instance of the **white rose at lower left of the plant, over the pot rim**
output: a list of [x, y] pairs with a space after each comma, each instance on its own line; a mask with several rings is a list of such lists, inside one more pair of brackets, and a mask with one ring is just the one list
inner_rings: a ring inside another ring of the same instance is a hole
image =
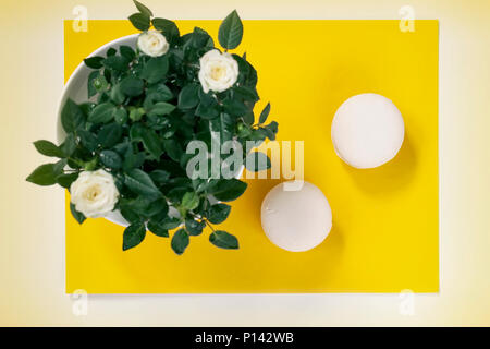
[[100, 169], [79, 173], [70, 186], [71, 202], [85, 217], [97, 218], [114, 209], [119, 191], [112, 174]]

